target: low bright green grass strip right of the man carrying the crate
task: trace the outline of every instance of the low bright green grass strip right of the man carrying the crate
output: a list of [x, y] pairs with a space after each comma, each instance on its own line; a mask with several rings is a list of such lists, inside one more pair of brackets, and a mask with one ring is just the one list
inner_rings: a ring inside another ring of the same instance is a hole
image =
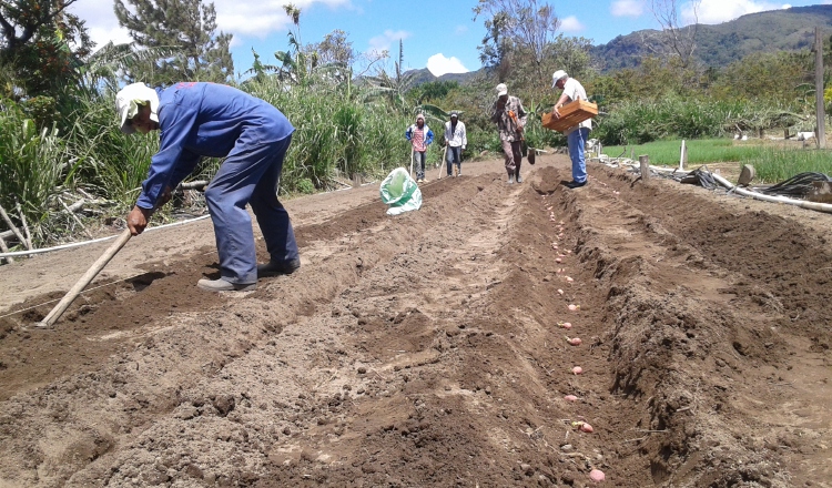
[[[684, 145], [688, 148], [688, 165], [744, 161], [759, 157], [764, 151], [762, 146], [734, 144], [729, 139], [690, 140], [684, 141]], [[610, 157], [632, 155], [635, 159], [647, 154], [650, 156], [650, 164], [676, 166], [679, 164], [681, 146], [682, 141], [677, 139], [629, 146], [611, 145], [603, 148], [603, 154]]]

